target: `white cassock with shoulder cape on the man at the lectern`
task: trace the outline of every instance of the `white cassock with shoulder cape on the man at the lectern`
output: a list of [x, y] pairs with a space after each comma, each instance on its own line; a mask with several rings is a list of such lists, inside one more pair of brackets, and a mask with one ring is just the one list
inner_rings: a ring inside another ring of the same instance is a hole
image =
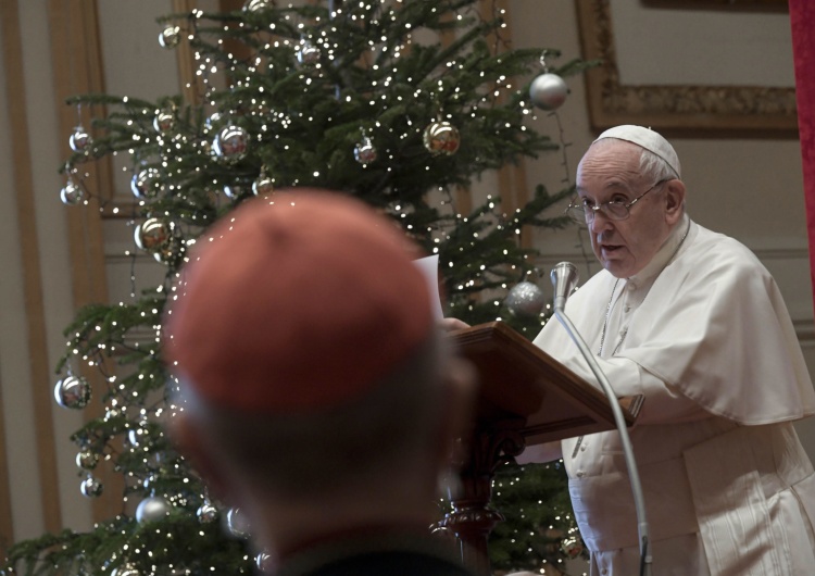
[[[815, 392], [755, 255], [686, 216], [640, 274], [601, 271], [566, 313], [592, 352], [604, 340], [598, 361], [617, 396], [645, 397], [630, 436], [653, 575], [815, 574], [815, 475], [791, 424], [815, 414]], [[597, 383], [555, 320], [535, 343]], [[618, 433], [562, 449], [592, 575], [639, 574]]]

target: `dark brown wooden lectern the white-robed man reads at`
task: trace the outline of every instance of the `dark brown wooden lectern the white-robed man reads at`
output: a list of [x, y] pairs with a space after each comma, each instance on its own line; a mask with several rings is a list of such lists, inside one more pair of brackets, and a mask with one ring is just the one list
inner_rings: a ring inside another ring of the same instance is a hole
[[[490, 508], [499, 464], [527, 446], [616, 428], [605, 395], [501, 322], [450, 333], [459, 353], [475, 364], [479, 399], [473, 435], [460, 469], [461, 489], [438, 527], [452, 530], [462, 559], [490, 574], [487, 538], [503, 519]], [[631, 426], [642, 397], [619, 400]]]

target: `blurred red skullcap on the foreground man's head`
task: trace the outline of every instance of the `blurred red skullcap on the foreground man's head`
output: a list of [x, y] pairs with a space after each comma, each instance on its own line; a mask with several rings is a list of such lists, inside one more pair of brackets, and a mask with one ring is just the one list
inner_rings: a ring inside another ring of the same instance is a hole
[[434, 328], [416, 250], [338, 192], [252, 199], [199, 239], [164, 321], [171, 370], [201, 398], [253, 412], [363, 395]]

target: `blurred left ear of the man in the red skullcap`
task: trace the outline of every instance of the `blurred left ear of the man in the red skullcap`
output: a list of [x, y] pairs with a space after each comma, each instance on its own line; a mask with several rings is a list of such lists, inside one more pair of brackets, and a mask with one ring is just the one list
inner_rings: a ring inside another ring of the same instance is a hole
[[167, 423], [170, 438], [191, 464], [192, 468], [203, 478], [210, 496], [220, 502], [227, 502], [227, 479], [223, 474], [224, 466], [218, 465], [213, 455], [212, 443], [196, 426], [196, 422], [186, 412], [177, 412]]

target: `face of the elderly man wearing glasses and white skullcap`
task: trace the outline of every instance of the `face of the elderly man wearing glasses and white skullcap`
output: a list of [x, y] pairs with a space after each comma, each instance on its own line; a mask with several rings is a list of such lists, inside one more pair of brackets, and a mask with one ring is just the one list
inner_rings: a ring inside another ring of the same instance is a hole
[[[640, 150], [620, 140], [592, 146], [577, 168], [580, 199], [594, 205], [611, 200], [629, 203], [656, 184], [639, 172]], [[617, 278], [640, 272], [677, 222], [677, 214], [668, 210], [666, 186], [638, 200], [626, 220], [611, 220], [600, 210], [588, 224], [594, 255]]]

